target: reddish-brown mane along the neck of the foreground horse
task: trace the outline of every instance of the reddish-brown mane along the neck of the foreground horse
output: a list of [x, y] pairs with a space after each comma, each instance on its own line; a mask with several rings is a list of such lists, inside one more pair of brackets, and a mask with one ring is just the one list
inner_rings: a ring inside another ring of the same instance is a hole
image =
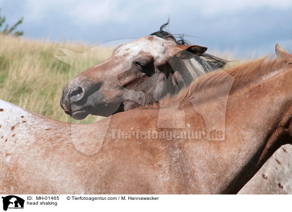
[[263, 57], [228, 70], [221, 69], [209, 72], [195, 79], [190, 86], [182, 89], [178, 95], [171, 96], [167, 94], [158, 104], [140, 108], [167, 107], [181, 101], [190, 100], [199, 104], [223, 95], [232, 95], [240, 88], [260, 82], [259, 80], [264, 76], [274, 71], [292, 69], [291, 64], [291, 60], [288, 59], [279, 60], [277, 58], [267, 59], [267, 57]]

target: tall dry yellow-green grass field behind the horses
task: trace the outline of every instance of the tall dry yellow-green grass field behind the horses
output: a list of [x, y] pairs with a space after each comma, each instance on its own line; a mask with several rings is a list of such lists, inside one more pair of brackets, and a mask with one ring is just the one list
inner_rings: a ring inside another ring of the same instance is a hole
[[[72, 65], [55, 57], [65, 56], [60, 48], [73, 51], [65, 52], [67, 57], [62, 59]], [[68, 80], [102, 62], [112, 53], [112, 48], [90, 49], [90, 46], [82, 44], [0, 35], [0, 99], [63, 122], [85, 124], [101, 119], [89, 115], [81, 121], [72, 120], [59, 105], [63, 87]], [[233, 65], [231, 63], [228, 67]]]

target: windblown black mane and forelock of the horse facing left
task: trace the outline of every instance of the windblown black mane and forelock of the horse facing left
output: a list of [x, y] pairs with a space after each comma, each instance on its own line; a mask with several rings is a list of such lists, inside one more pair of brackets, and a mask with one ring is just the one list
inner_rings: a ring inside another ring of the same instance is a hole
[[[177, 45], [190, 45], [190, 43], [184, 39], [184, 35], [183, 34], [177, 34], [178, 36], [175, 37], [173, 34], [171, 34], [169, 31], [165, 31], [164, 28], [169, 24], [169, 18], [167, 20], [166, 23], [164, 23], [159, 31], [152, 33], [150, 35], [156, 35], [158, 37], [161, 37], [165, 40], [167, 39], [172, 39], [175, 41], [175, 43]], [[213, 56], [211, 54], [208, 53], [202, 53], [201, 55], [199, 55], [200, 57], [203, 57], [204, 59], [206, 59], [207, 61], [210, 61], [211, 63], [213, 63], [216, 66], [219, 66], [220, 68], [222, 68], [226, 62], [228, 62], [227, 60], [221, 59], [219, 57]]]

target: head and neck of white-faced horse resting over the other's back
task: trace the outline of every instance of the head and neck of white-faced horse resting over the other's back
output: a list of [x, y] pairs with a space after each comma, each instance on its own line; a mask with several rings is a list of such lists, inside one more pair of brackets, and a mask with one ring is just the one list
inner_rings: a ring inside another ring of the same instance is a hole
[[110, 116], [151, 105], [225, 64], [204, 53], [206, 47], [186, 45], [183, 37], [177, 40], [164, 31], [168, 23], [151, 35], [118, 46], [110, 58], [69, 81], [60, 99], [65, 113], [83, 119], [88, 114]]

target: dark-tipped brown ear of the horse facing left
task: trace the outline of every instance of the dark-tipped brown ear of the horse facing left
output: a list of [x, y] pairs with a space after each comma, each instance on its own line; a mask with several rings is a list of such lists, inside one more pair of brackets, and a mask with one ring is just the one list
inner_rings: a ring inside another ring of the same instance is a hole
[[175, 46], [174, 56], [179, 59], [190, 59], [206, 52], [207, 47], [197, 45], [179, 45]]

